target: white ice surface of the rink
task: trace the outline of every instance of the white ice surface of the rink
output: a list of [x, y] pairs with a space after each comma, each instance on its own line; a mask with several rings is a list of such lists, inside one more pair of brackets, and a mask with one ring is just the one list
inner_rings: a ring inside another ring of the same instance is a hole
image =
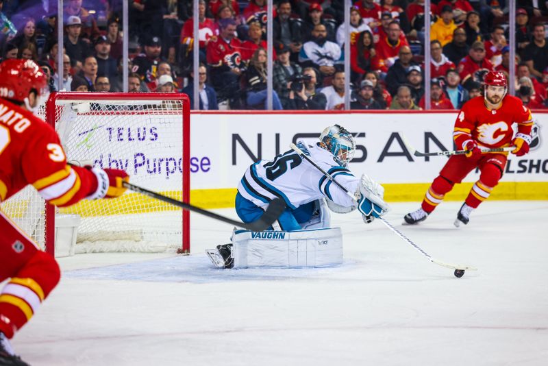
[[[32, 365], [546, 365], [548, 202], [460, 202], [418, 226], [335, 215], [345, 263], [216, 269], [203, 249], [232, 227], [192, 214], [192, 255], [60, 258], [62, 282], [13, 340]], [[218, 210], [235, 217], [233, 210]]]

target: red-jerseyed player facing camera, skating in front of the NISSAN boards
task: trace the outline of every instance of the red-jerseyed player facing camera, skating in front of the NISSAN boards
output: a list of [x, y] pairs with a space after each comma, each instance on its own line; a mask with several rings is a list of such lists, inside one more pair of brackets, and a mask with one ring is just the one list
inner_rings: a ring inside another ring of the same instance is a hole
[[[521, 99], [507, 95], [508, 84], [503, 73], [491, 71], [484, 77], [484, 97], [475, 97], [460, 110], [453, 140], [466, 155], [453, 155], [441, 169], [440, 175], [423, 199], [419, 210], [404, 217], [406, 223], [419, 223], [434, 211], [455, 183], [460, 183], [473, 169], [481, 171], [464, 204], [460, 208], [455, 225], [468, 223], [470, 213], [484, 202], [497, 186], [504, 172], [508, 153], [482, 154], [480, 147], [495, 148], [514, 146], [512, 154], [523, 156], [529, 152], [531, 128], [530, 110]], [[513, 136], [512, 124], [518, 132]]]

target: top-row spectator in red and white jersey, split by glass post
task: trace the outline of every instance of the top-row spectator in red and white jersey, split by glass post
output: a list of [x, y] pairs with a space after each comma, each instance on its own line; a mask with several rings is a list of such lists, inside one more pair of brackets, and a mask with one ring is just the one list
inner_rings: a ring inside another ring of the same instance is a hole
[[[221, 1], [216, 1], [214, 9], [217, 10]], [[212, 3], [210, 2], [210, 7]], [[217, 14], [216, 11], [213, 14]], [[206, 60], [206, 49], [210, 40], [215, 41], [219, 36], [219, 28], [215, 21], [211, 18], [206, 18], [206, 2], [200, 0], [198, 5], [198, 27], [199, 27], [199, 47], [200, 47], [200, 60]], [[181, 29], [181, 44], [188, 46], [188, 51], [192, 50], [194, 45], [194, 18], [188, 19], [184, 22]]]

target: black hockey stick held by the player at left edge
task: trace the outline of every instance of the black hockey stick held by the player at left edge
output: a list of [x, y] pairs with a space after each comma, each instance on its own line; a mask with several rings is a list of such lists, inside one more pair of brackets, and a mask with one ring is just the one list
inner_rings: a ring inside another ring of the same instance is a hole
[[164, 202], [167, 202], [168, 204], [178, 206], [182, 208], [183, 210], [197, 212], [201, 215], [210, 217], [212, 219], [223, 221], [225, 223], [238, 226], [238, 228], [244, 228], [251, 231], [263, 231], [268, 229], [272, 225], [272, 223], [277, 220], [279, 215], [281, 215], [282, 212], [286, 209], [286, 203], [282, 199], [276, 198], [270, 202], [269, 207], [266, 208], [266, 211], [264, 211], [264, 214], [262, 214], [262, 216], [259, 219], [257, 219], [256, 221], [252, 221], [250, 223], [242, 223], [240, 221], [232, 220], [227, 217], [217, 215], [214, 212], [203, 210], [203, 208], [199, 208], [196, 206], [192, 206], [191, 204], [186, 204], [184, 202], [177, 201], [177, 199], [160, 195], [160, 193], [149, 191], [148, 189], [142, 188], [140, 186], [136, 186], [129, 182], [123, 182], [122, 184], [123, 186], [125, 186], [126, 188], [134, 192], [141, 193], [142, 195], [147, 195], [154, 199], [160, 199], [160, 201], [164, 201]]

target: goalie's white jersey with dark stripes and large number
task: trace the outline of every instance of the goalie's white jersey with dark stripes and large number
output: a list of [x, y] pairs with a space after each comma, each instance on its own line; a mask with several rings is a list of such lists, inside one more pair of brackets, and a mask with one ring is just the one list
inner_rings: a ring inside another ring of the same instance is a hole
[[[310, 145], [300, 140], [297, 146], [348, 191], [356, 192], [360, 178], [340, 166], [332, 153], [318, 144]], [[288, 208], [292, 209], [322, 197], [340, 206], [356, 206], [356, 201], [293, 150], [273, 160], [260, 160], [252, 164], [240, 180], [238, 191], [259, 207], [268, 206], [275, 197], [284, 199]]]

